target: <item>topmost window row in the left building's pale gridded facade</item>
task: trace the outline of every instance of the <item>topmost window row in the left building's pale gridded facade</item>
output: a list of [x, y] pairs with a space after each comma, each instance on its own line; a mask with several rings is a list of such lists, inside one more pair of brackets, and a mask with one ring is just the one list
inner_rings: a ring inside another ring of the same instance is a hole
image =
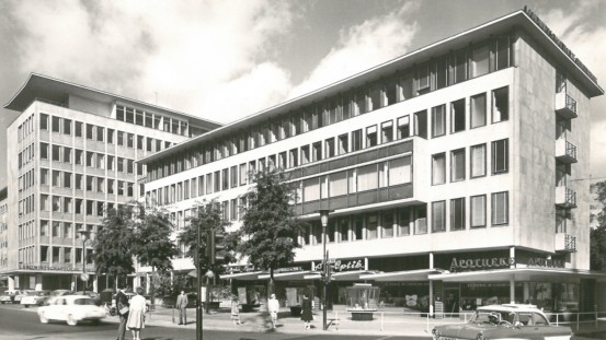
[[158, 152], [171, 146], [171, 142], [169, 141], [161, 141], [159, 139], [135, 133], [116, 131], [115, 129], [100, 127], [92, 124], [84, 124], [78, 120], [72, 121], [68, 118], [48, 116], [46, 114], [41, 114], [39, 128], [44, 131], [48, 131], [50, 128], [50, 131], [57, 133], [67, 136], [71, 136], [73, 133], [76, 137], [85, 137], [89, 140], [98, 142], [106, 142], [107, 144], [117, 144], [119, 146], [130, 149], [136, 148], [137, 150], [145, 150], [148, 152]]

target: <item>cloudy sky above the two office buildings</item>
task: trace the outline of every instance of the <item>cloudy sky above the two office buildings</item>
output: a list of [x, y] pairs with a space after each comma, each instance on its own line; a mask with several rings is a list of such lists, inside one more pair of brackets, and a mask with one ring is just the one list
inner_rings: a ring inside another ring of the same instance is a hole
[[[36, 72], [226, 124], [525, 4], [605, 87], [599, 0], [2, 0], [0, 103]], [[606, 177], [606, 99], [592, 107]], [[0, 160], [15, 116], [0, 108]]]

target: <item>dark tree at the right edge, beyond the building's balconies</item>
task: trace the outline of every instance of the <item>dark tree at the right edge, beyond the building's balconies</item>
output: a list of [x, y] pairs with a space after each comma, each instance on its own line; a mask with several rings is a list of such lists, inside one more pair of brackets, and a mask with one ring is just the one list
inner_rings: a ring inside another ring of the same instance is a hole
[[602, 210], [592, 215], [598, 225], [590, 231], [590, 269], [606, 270], [606, 180], [593, 184], [592, 190], [597, 194]]

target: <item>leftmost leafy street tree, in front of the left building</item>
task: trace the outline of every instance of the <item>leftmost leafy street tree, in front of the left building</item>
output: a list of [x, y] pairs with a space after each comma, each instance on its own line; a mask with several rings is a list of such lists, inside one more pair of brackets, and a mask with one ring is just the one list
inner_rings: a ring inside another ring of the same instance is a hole
[[106, 273], [116, 280], [135, 271], [133, 247], [133, 207], [118, 206], [106, 210], [93, 242], [96, 274]]

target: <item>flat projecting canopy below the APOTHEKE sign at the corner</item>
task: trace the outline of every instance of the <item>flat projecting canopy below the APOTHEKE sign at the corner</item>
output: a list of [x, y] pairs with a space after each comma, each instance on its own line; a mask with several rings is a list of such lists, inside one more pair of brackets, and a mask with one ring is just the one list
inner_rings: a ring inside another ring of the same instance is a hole
[[444, 282], [494, 282], [494, 281], [554, 281], [576, 282], [579, 279], [596, 279], [606, 281], [606, 273], [564, 268], [514, 268], [493, 269], [466, 272], [435, 273], [430, 280]]

